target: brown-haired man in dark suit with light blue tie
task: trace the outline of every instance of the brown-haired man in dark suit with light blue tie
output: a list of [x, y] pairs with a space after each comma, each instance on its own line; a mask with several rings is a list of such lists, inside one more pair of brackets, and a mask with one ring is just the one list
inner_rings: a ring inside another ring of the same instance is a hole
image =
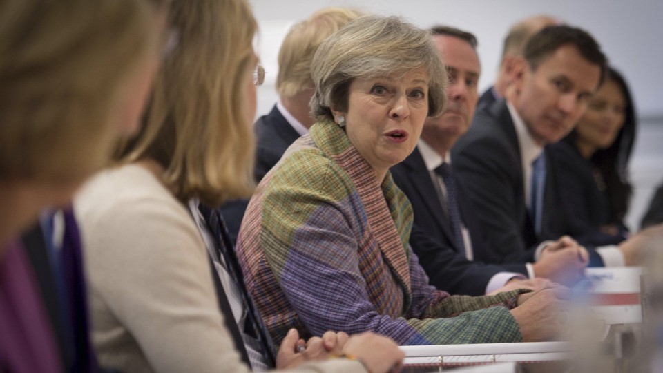
[[[537, 244], [564, 231], [544, 146], [575, 126], [605, 69], [606, 57], [586, 32], [544, 28], [517, 59], [506, 100], [481, 108], [452, 149], [454, 171], [481, 211], [498, 262], [536, 260]], [[624, 265], [630, 251], [626, 245], [590, 254], [597, 265]]]

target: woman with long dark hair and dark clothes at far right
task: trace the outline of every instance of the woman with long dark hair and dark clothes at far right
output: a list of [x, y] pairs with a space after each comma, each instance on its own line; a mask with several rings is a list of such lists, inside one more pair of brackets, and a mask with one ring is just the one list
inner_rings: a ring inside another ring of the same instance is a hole
[[564, 140], [550, 145], [569, 231], [583, 245], [615, 245], [628, 236], [628, 159], [635, 107], [624, 77], [610, 68], [586, 113]]

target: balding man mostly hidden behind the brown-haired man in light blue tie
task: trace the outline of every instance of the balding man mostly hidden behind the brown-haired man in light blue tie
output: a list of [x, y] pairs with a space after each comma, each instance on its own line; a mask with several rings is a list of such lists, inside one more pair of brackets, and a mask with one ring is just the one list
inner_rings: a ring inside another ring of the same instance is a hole
[[502, 57], [494, 84], [479, 97], [479, 108], [488, 106], [504, 97], [513, 67], [515, 66], [514, 62], [517, 57], [523, 54], [523, 48], [525, 48], [528, 39], [542, 28], [559, 23], [557, 19], [549, 15], [535, 15], [521, 19], [521, 21], [518, 21], [509, 28], [506, 37], [504, 37]]

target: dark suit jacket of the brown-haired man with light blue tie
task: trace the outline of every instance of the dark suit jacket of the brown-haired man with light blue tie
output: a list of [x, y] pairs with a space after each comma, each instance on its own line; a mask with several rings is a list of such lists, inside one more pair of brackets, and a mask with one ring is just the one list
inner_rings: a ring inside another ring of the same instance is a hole
[[[452, 149], [452, 160], [459, 183], [481, 211], [481, 227], [497, 251], [495, 262], [532, 261], [538, 242], [555, 240], [564, 231], [550, 167], [546, 167], [541, 234], [534, 231], [525, 204], [519, 142], [504, 100], [477, 111], [469, 131]], [[548, 157], [546, 161], [550, 164]]]

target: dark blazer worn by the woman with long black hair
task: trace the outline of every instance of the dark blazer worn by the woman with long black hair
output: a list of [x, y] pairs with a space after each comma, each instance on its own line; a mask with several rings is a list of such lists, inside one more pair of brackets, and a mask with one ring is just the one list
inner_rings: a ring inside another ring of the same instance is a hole
[[[550, 166], [557, 173], [555, 187], [568, 216], [568, 231], [582, 245], [617, 245], [626, 237], [600, 231], [608, 224], [610, 205], [606, 194], [599, 190], [594, 179], [592, 166], [578, 149], [566, 141], [548, 145]], [[619, 229], [626, 233], [623, 223]]]

